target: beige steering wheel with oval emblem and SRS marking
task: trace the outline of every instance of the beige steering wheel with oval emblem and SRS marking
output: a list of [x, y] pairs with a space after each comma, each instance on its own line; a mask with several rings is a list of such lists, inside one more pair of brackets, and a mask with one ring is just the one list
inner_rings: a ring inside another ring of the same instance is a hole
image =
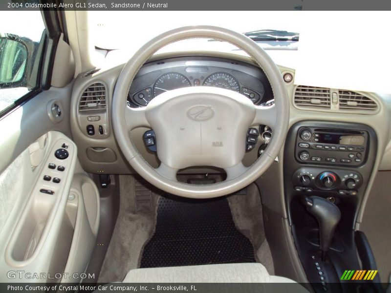
[[[249, 54], [270, 81], [275, 98], [271, 106], [254, 105], [228, 89], [197, 86], [164, 92], [146, 106], [126, 104], [130, 84], [140, 67], [160, 48], [190, 38], [229, 42]], [[118, 144], [131, 167], [152, 185], [190, 198], [212, 198], [233, 193], [254, 182], [274, 161], [286, 137], [289, 99], [276, 64], [246, 36], [215, 26], [187, 26], [161, 34], [142, 46], [125, 64], [114, 89], [112, 122]], [[263, 155], [250, 167], [242, 164], [249, 126], [267, 125], [273, 137]], [[130, 130], [150, 127], [157, 142], [160, 166], [153, 168], [137, 151]], [[225, 170], [226, 180], [191, 185], [176, 179], [179, 169], [214, 166]]]

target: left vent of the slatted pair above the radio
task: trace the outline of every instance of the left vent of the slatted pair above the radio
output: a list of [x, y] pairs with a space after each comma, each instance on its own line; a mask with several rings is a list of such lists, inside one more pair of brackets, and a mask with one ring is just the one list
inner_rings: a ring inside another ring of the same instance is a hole
[[299, 85], [295, 91], [294, 102], [299, 107], [330, 108], [330, 89]]

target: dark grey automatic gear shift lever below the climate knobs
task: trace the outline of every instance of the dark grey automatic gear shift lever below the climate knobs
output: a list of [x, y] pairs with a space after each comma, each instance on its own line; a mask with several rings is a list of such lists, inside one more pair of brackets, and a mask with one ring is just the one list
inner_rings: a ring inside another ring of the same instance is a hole
[[336, 205], [319, 196], [305, 197], [304, 203], [308, 212], [318, 220], [322, 260], [325, 260], [335, 227], [341, 219], [341, 211]]

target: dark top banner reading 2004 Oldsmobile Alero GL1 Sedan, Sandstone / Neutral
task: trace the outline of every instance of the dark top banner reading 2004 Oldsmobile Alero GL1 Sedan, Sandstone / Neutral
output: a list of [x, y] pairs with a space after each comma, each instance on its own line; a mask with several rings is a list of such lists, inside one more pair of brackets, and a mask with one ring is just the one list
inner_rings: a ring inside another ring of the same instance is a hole
[[[293, 11], [391, 10], [390, 0], [1, 0], [0, 10]], [[197, 17], [195, 15], [195, 17]], [[198, 15], [198, 17], [202, 17]]]

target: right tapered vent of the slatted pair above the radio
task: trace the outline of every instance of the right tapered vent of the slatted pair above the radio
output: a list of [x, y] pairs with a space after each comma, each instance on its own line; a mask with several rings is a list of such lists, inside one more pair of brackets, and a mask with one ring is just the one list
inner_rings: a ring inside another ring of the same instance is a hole
[[378, 105], [372, 99], [348, 90], [339, 90], [339, 108], [349, 110], [377, 110]]

